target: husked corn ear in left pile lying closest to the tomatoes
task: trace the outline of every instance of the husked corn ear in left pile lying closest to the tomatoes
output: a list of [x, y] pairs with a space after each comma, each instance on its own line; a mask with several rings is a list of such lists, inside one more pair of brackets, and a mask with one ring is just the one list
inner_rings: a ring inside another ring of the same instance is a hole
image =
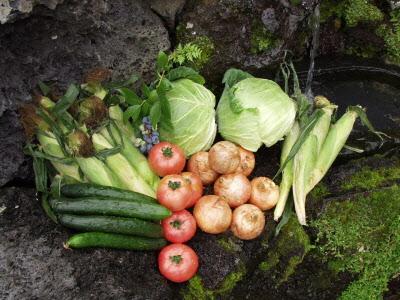
[[147, 158], [132, 145], [129, 138], [124, 132], [118, 130], [114, 125], [109, 126], [112, 137], [106, 128], [103, 128], [101, 134], [112, 144], [112, 146], [121, 145], [121, 154], [129, 161], [130, 165], [135, 168], [137, 173], [155, 190], [154, 187], [158, 186], [160, 178], [151, 170]]

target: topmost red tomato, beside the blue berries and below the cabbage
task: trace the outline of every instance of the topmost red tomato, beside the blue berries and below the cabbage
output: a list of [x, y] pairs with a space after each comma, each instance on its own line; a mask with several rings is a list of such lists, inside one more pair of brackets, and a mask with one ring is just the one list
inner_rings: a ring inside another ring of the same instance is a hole
[[161, 177], [182, 172], [185, 163], [183, 150], [168, 142], [154, 145], [149, 152], [150, 167]]

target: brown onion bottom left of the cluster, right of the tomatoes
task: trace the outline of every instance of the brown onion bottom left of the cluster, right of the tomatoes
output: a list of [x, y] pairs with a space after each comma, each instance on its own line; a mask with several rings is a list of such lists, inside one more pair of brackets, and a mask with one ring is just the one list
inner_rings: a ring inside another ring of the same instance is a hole
[[226, 231], [232, 221], [232, 210], [228, 203], [215, 195], [201, 197], [193, 215], [201, 230], [213, 234]]

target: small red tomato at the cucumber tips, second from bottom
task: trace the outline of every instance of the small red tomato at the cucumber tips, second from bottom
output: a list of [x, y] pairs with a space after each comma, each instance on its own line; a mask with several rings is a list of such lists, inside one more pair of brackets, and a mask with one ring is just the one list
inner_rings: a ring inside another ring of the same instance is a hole
[[196, 220], [187, 210], [174, 212], [162, 221], [164, 237], [171, 243], [184, 243], [196, 233]]

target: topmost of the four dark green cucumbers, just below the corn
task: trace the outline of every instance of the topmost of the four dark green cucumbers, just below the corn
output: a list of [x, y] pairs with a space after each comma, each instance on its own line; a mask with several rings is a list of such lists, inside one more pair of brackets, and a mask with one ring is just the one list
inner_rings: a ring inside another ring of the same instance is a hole
[[156, 199], [147, 195], [91, 183], [74, 183], [64, 185], [61, 187], [61, 194], [71, 198], [105, 197], [121, 200], [133, 200], [142, 203], [157, 203]]

